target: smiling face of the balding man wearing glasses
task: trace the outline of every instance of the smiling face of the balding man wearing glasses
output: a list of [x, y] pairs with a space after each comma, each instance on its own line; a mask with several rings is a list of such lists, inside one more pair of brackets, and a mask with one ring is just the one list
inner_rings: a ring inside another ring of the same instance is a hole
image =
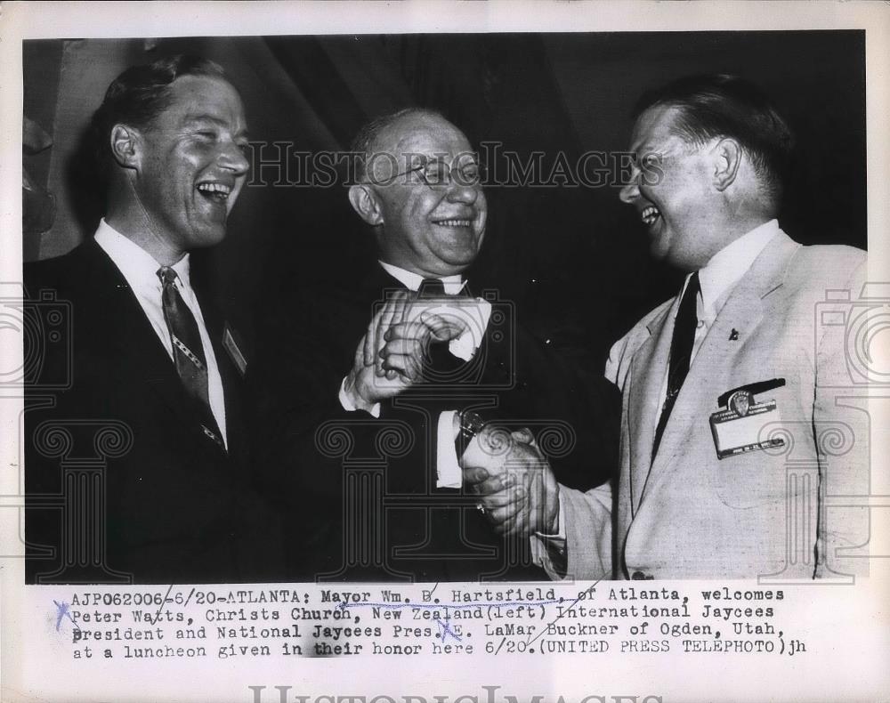
[[[424, 113], [402, 117], [380, 133], [374, 151], [392, 155], [399, 173], [417, 158], [441, 159], [447, 166], [474, 163], [470, 144], [457, 127]], [[406, 162], [408, 158], [408, 162]], [[420, 174], [392, 179], [390, 158], [375, 158], [368, 186], [376, 199], [380, 257], [421, 276], [449, 276], [473, 263], [485, 234], [488, 206], [481, 185], [460, 178], [431, 188]]]

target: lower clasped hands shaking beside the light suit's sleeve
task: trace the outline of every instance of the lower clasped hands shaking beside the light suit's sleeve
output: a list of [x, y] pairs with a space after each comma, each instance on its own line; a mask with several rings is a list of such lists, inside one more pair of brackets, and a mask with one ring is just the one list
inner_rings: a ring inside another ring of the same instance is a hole
[[559, 484], [529, 430], [483, 428], [461, 465], [464, 485], [480, 497], [495, 532], [521, 537], [556, 532]]

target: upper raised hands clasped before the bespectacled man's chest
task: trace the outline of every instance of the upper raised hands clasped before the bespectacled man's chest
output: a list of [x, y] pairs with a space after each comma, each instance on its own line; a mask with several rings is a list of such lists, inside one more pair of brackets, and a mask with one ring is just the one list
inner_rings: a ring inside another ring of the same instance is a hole
[[376, 312], [355, 351], [344, 392], [356, 408], [370, 411], [423, 377], [426, 348], [464, 332], [457, 319], [411, 314], [417, 295], [397, 291]]

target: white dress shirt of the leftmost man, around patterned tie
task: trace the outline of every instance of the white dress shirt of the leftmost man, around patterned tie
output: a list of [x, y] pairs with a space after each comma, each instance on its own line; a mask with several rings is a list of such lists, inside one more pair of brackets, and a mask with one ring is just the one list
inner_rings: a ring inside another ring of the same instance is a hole
[[[161, 303], [163, 287], [161, 280], [158, 278], [158, 269], [161, 268], [161, 264], [156, 262], [154, 257], [145, 251], [142, 246], [126, 238], [111, 227], [108, 222], [105, 222], [104, 219], [99, 223], [95, 239], [96, 244], [101, 246], [102, 250], [109, 255], [111, 261], [124, 276], [127, 285], [133, 291], [136, 300], [145, 313], [145, 317], [149, 319], [160, 343], [164, 345], [167, 355], [173, 361], [173, 342], [170, 339], [170, 331], [164, 321], [164, 309]], [[201, 314], [201, 308], [198, 305], [198, 298], [195, 297], [195, 292], [191, 288], [189, 255], [183, 256], [182, 259], [174, 263], [170, 268], [176, 271], [174, 285], [179, 290], [180, 295], [182, 295], [182, 300], [188, 305], [191, 314], [195, 316], [195, 321], [198, 322], [198, 331], [201, 335], [201, 343], [204, 345], [204, 357], [207, 362], [207, 394], [210, 399], [210, 409], [214, 414], [216, 424], [219, 425], [220, 432], [223, 433], [223, 443], [228, 447], [229, 442], [226, 437], [225, 427], [223, 379], [220, 377], [219, 367], [216, 365], [213, 344], [210, 343], [210, 335], [207, 334], [207, 327], [204, 323], [204, 316]]]

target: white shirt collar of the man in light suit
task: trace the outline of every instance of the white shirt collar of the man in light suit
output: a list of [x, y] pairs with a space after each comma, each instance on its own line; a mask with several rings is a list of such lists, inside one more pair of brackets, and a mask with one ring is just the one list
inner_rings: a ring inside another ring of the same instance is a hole
[[[715, 314], [719, 311], [721, 303], [732, 292], [732, 288], [779, 231], [777, 220], [764, 222], [733, 240], [711, 257], [699, 271], [701, 303], [705, 311], [713, 311]], [[688, 282], [689, 276], [686, 277], [684, 291]]]

